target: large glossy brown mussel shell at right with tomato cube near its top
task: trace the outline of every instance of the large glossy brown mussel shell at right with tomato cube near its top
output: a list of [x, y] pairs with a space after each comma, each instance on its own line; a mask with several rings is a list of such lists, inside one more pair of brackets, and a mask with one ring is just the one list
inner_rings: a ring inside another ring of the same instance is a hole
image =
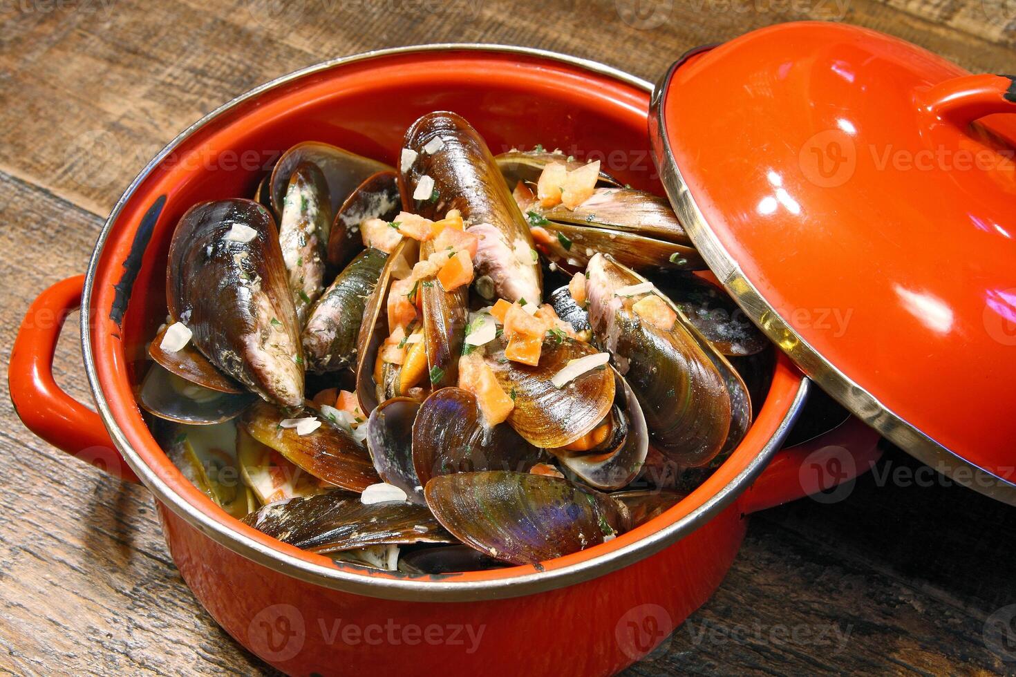
[[[642, 405], [650, 444], [682, 467], [708, 463], [726, 442], [732, 420], [727, 383], [706, 352], [711, 348], [680, 321], [671, 329], [642, 321], [632, 310], [638, 299], [616, 291], [643, 280], [618, 262], [597, 255], [587, 273], [589, 323]], [[750, 410], [747, 399], [746, 391]]]

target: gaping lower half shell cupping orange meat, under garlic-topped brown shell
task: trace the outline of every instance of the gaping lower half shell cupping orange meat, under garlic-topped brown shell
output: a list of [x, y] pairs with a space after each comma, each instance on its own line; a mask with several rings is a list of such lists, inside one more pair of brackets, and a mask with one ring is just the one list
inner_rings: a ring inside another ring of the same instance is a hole
[[624, 434], [609, 436], [611, 444], [607, 449], [595, 449], [589, 454], [569, 455], [550, 450], [580, 480], [605, 490], [623, 488], [635, 479], [649, 451], [649, 431], [642, 407], [621, 375], [616, 371], [614, 375], [617, 400], [611, 418], [616, 427], [623, 426]]

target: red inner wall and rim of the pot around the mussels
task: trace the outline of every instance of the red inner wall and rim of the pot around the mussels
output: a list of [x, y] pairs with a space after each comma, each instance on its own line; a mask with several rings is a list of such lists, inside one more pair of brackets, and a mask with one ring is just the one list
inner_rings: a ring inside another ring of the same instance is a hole
[[[100, 409], [122, 451], [171, 507], [186, 512], [206, 533], [238, 539], [230, 547], [255, 543], [261, 551], [273, 550], [272, 556], [312, 568], [405, 578], [335, 564], [241, 525], [185, 480], [155, 444], [132, 389], [147, 368], [146, 343], [166, 318], [167, 254], [178, 219], [196, 202], [252, 196], [274, 159], [301, 141], [324, 141], [395, 164], [405, 129], [436, 110], [462, 115], [495, 153], [542, 143], [578, 158], [600, 159], [622, 182], [662, 195], [646, 131], [648, 108], [648, 84], [634, 78], [547, 56], [445, 48], [368, 55], [310, 69], [254, 90], [195, 125], [125, 194], [92, 263], [86, 348]], [[705, 484], [635, 531], [549, 562], [541, 571], [625, 548], [630, 554], [639, 539], [702, 510], [759, 455], [791, 407], [801, 377], [782, 356], [774, 361], [772, 386], [752, 430]], [[533, 573], [533, 567], [519, 566], [446, 578]]]

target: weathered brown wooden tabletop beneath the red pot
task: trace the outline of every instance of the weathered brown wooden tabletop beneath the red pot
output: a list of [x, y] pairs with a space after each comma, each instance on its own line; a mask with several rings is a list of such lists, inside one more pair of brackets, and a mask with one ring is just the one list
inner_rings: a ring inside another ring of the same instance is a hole
[[[0, 345], [37, 292], [84, 269], [147, 159], [262, 81], [429, 42], [526, 45], [654, 79], [690, 47], [799, 18], [1016, 69], [1016, 0], [0, 0]], [[57, 371], [88, 399], [73, 327]], [[34, 437], [0, 389], [0, 670], [271, 673], [191, 597], [148, 492]], [[630, 673], [1016, 670], [1011, 622], [1008, 641], [985, 631], [1016, 614], [1016, 513], [917, 469], [890, 450], [845, 500], [754, 518], [716, 595]]]

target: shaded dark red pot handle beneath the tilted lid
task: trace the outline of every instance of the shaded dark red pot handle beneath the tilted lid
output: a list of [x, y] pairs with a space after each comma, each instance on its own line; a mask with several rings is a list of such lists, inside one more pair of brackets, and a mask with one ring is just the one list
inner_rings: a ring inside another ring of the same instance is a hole
[[816, 494], [823, 502], [842, 500], [849, 491], [835, 487], [872, 469], [882, 456], [879, 439], [878, 432], [851, 416], [828, 432], [780, 451], [742, 494], [741, 511], [755, 513]]

